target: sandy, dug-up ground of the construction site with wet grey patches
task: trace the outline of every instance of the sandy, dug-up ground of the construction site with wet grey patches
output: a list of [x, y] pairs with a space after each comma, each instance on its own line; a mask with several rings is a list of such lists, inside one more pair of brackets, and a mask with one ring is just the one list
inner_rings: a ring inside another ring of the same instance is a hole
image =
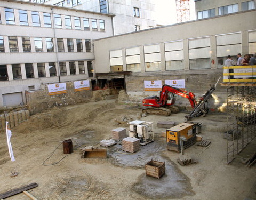
[[[117, 125], [114, 119], [129, 116], [137, 119], [137, 107], [118, 105], [116, 99], [53, 108], [32, 116], [12, 130], [15, 169], [19, 175], [10, 178], [12, 163], [5, 133], [0, 134], [0, 193], [36, 182], [29, 190], [38, 199], [256, 199], [256, 167], [247, 168], [239, 158], [255, 152], [255, 140], [235, 161], [226, 164], [225, 114], [195, 118], [202, 122], [203, 139], [211, 145], [192, 146], [185, 150], [197, 164], [180, 166], [180, 154], [167, 151], [166, 139], [156, 127], [159, 120], [183, 122], [187, 113], [169, 117], [150, 115], [142, 118], [154, 122], [155, 142], [133, 155], [122, 154], [119, 143], [107, 148], [107, 159], [81, 159], [79, 145], [95, 145], [111, 137]], [[61, 142], [73, 139], [74, 153], [63, 154]], [[57, 149], [56, 149], [57, 148]], [[44, 166], [43, 162], [53, 153]], [[201, 154], [199, 154], [201, 153]], [[199, 154], [199, 155], [198, 155]], [[66, 157], [65, 157], [66, 156]], [[161, 179], [146, 177], [145, 164], [150, 159], [165, 162], [166, 175]], [[18, 194], [7, 199], [28, 199]]]

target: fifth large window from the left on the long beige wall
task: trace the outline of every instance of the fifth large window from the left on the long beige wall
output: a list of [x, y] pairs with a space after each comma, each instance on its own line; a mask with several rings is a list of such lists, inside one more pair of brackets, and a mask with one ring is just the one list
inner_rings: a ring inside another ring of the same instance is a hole
[[210, 38], [189, 39], [189, 69], [210, 69]]

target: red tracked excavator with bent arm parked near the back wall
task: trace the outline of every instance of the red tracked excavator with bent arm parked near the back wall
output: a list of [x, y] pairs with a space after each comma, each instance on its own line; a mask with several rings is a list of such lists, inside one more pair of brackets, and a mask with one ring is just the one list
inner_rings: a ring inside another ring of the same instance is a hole
[[143, 106], [150, 106], [142, 108], [142, 112], [148, 114], [157, 114], [169, 116], [171, 113], [179, 113], [179, 108], [173, 106], [175, 103], [174, 94], [178, 94], [181, 97], [188, 98], [191, 107], [194, 109], [197, 105], [195, 94], [180, 90], [170, 85], [163, 85], [160, 97], [153, 96], [143, 99]]

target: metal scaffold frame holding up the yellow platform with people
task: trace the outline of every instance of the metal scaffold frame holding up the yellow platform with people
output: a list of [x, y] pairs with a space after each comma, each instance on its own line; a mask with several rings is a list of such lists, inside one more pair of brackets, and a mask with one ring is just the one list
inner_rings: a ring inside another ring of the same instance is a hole
[[227, 88], [227, 163], [256, 136], [256, 86]]

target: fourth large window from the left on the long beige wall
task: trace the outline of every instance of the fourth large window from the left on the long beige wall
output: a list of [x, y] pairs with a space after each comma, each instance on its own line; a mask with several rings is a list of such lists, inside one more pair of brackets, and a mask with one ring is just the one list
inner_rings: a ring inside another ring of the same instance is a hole
[[168, 42], [164, 44], [165, 67], [169, 70], [184, 69], [183, 41]]

